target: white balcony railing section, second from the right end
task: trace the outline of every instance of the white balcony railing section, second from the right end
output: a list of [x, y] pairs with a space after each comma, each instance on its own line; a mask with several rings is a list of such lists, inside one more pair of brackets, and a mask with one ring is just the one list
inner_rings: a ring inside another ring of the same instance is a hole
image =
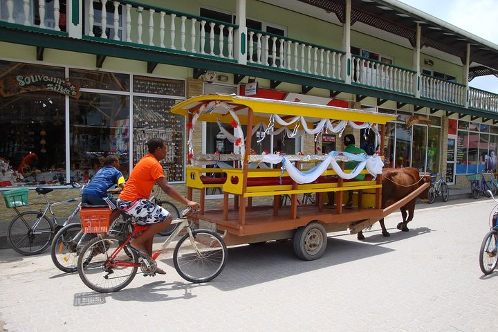
[[465, 105], [465, 85], [421, 75], [421, 98]]

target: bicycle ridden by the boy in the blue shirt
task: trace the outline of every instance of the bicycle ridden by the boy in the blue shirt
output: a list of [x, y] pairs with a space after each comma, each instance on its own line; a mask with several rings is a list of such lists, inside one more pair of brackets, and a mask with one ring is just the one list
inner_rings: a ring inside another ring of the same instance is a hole
[[[109, 205], [109, 209], [116, 209], [116, 206], [109, 199], [106, 198], [104, 201]], [[102, 207], [89, 205], [88, 208], [95, 209]], [[107, 234], [127, 237], [131, 232], [133, 232], [131, 218], [120, 214], [109, 227]], [[50, 246], [50, 256], [55, 267], [66, 273], [76, 272], [78, 255], [80, 255], [86, 243], [95, 237], [96, 234], [94, 233], [83, 232], [81, 223], [68, 223], [65, 225], [55, 234], [52, 246]]]

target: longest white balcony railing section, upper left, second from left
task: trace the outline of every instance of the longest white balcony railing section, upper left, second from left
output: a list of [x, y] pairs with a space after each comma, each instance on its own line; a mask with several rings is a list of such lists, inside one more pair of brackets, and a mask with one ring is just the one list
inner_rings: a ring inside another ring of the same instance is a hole
[[237, 26], [233, 24], [131, 1], [89, 1], [88, 5], [86, 36], [234, 59]]

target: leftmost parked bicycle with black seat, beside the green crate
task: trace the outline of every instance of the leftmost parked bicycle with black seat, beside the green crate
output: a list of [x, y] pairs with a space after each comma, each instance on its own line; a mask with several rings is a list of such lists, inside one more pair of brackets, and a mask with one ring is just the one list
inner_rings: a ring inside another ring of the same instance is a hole
[[[82, 186], [75, 182], [66, 183], [66, 185], [78, 188], [80, 192], [83, 189]], [[39, 211], [25, 211], [17, 214], [10, 221], [7, 229], [7, 241], [12, 249], [26, 256], [43, 252], [52, 243], [54, 235], [62, 227], [71, 223], [73, 216], [80, 211], [81, 206], [81, 203], [79, 203], [68, 216], [68, 219], [60, 225], [52, 208], [57, 205], [81, 201], [81, 196], [66, 199], [65, 201], [50, 202], [47, 194], [53, 192], [52, 188], [37, 187], [35, 191], [44, 196], [46, 201], [45, 209], [41, 208]], [[51, 219], [47, 216], [48, 213], [50, 213]]]

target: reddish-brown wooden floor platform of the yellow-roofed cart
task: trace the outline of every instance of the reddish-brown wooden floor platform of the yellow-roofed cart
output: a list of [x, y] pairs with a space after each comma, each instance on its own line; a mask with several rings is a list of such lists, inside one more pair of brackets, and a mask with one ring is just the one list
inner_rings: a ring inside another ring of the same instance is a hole
[[230, 210], [226, 221], [223, 220], [223, 210], [208, 210], [199, 214], [198, 218], [202, 221], [216, 223], [218, 230], [227, 230], [231, 234], [246, 236], [293, 230], [307, 225], [313, 220], [321, 221], [324, 225], [344, 224], [343, 228], [347, 229], [347, 226], [354, 221], [381, 219], [382, 210], [353, 208], [351, 210], [343, 209], [342, 214], [337, 214], [335, 209], [325, 206], [320, 211], [317, 205], [299, 205], [297, 219], [291, 219], [289, 206], [279, 208], [277, 216], [273, 215], [273, 206], [257, 206], [246, 209], [246, 223], [244, 225], [239, 224], [238, 210]]

